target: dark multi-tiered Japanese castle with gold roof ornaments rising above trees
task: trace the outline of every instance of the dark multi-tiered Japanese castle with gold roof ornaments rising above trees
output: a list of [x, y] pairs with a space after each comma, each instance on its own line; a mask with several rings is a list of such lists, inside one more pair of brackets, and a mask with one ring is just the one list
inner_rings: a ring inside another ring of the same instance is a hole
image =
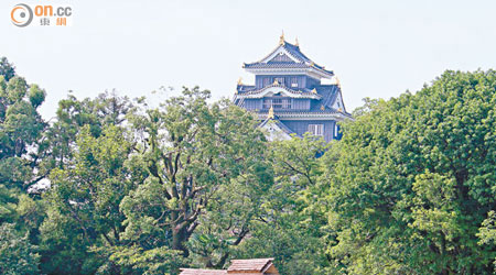
[[336, 122], [352, 116], [344, 107], [339, 80], [306, 57], [298, 40], [290, 44], [282, 34], [276, 50], [242, 67], [255, 74], [255, 85], [239, 80], [234, 102], [258, 114], [269, 140], [303, 136], [305, 132], [326, 142], [341, 139]]

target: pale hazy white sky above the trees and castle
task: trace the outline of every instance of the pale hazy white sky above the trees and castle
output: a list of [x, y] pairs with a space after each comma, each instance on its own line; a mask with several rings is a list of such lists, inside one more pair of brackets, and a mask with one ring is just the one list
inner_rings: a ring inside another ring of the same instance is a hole
[[[71, 28], [18, 28], [17, 3], [71, 4]], [[231, 97], [244, 62], [288, 41], [339, 77], [348, 111], [416, 91], [445, 69], [496, 67], [496, 1], [1, 0], [0, 56], [47, 91], [45, 118], [73, 90], [130, 97], [200, 85]]]

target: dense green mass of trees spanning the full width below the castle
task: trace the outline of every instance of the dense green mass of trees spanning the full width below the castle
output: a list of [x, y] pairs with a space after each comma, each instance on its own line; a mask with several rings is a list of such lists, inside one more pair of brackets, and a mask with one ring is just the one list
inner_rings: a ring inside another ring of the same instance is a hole
[[[48, 91], [50, 92], [50, 91]], [[184, 88], [159, 107], [46, 92], [0, 64], [0, 274], [492, 274], [496, 72], [366, 99], [343, 139], [268, 142]]]

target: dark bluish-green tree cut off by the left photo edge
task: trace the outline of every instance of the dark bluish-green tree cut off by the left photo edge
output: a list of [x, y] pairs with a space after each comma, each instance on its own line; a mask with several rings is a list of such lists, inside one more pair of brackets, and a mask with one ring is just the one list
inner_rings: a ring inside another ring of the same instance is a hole
[[45, 91], [0, 61], [0, 273], [37, 274], [37, 228], [43, 205], [32, 187], [40, 172], [46, 123], [37, 112]]

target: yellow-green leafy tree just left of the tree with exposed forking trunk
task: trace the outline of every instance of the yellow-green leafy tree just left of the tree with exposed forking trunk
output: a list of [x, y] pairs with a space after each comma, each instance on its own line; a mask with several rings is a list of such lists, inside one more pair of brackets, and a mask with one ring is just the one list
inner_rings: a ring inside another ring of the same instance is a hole
[[50, 208], [41, 228], [42, 261], [48, 273], [94, 273], [106, 262], [89, 248], [118, 244], [123, 227], [119, 204], [140, 183], [131, 175], [131, 146], [121, 128], [109, 125], [95, 138], [86, 125], [76, 145], [74, 158], [52, 170], [45, 195]]

